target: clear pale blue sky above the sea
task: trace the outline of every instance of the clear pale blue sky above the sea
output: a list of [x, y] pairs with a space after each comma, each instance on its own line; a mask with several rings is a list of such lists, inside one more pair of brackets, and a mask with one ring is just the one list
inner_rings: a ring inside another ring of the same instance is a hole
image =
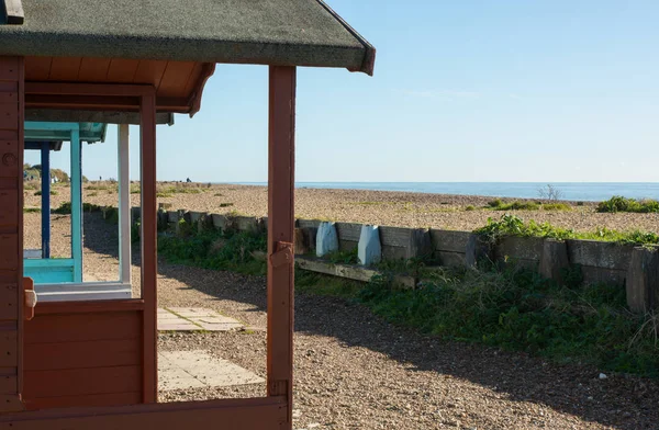
[[[298, 181], [659, 180], [658, 1], [328, 3], [377, 47], [376, 76], [299, 69]], [[176, 122], [159, 180], [267, 179], [266, 67], [219, 65]], [[115, 135], [85, 147], [90, 179], [116, 177]]]

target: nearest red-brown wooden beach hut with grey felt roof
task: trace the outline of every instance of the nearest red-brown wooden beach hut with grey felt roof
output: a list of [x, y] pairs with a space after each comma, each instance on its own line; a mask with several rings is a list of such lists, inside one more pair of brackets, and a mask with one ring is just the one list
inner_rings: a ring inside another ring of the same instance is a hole
[[[291, 429], [297, 67], [373, 63], [321, 0], [0, 0], [0, 428]], [[269, 67], [267, 396], [158, 404], [156, 124], [216, 64]], [[29, 307], [25, 121], [139, 125], [139, 297]]]

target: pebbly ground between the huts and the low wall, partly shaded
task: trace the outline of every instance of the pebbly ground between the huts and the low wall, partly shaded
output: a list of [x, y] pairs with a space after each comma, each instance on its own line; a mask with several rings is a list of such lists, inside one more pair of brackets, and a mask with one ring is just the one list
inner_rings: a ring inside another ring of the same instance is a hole
[[[38, 228], [38, 216], [26, 216]], [[115, 226], [86, 217], [86, 269], [114, 272]], [[66, 248], [66, 217], [54, 247]], [[34, 240], [31, 237], [29, 240]], [[133, 274], [138, 275], [138, 252]], [[138, 281], [136, 282], [138, 284]], [[247, 332], [161, 335], [165, 350], [209, 350], [266, 373], [265, 279], [159, 262], [160, 306], [200, 306], [237, 318]], [[447, 342], [391, 326], [342, 299], [295, 296], [295, 429], [657, 429], [659, 384], [579, 364]], [[161, 393], [161, 401], [259, 396], [263, 384]]]

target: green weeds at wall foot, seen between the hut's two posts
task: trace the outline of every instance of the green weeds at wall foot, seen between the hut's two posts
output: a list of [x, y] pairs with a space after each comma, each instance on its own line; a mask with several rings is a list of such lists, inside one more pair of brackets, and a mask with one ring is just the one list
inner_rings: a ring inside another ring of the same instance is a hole
[[266, 274], [265, 235], [219, 230], [191, 234], [193, 228], [186, 224], [179, 226], [181, 236], [158, 237], [158, 253], [167, 261], [243, 274]]

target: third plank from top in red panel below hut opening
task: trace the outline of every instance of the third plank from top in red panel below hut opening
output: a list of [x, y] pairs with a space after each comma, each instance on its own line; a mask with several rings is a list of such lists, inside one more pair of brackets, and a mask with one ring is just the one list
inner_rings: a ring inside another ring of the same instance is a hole
[[132, 393], [141, 389], [142, 369], [137, 365], [25, 371], [25, 398]]

